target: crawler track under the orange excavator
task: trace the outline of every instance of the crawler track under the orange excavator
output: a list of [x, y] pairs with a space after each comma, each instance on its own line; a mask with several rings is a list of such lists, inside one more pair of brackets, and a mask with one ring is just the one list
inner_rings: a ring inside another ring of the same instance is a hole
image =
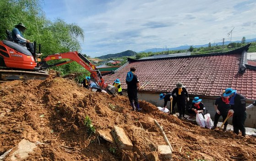
[[0, 68], [0, 83], [12, 80], [29, 80], [39, 79], [44, 80], [49, 77], [46, 71], [22, 71], [13, 70], [10, 68]]

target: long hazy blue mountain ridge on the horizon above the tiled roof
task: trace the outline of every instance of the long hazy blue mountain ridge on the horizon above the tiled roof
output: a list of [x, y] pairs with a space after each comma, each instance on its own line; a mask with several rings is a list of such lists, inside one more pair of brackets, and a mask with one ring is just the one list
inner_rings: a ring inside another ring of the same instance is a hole
[[[235, 41], [235, 42], [241, 42], [241, 41]], [[256, 38], [254, 39], [248, 39], [246, 40], [246, 42], [256, 42]], [[223, 42], [217, 42], [215, 43], [215, 46], [216, 45], [222, 45]], [[224, 45], [228, 45], [230, 43], [230, 41], [228, 42], [224, 42]], [[189, 49], [191, 45], [185, 45], [185, 46], [180, 46], [180, 47], [173, 47], [173, 48], [152, 48], [152, 49], [147, 49], [147, 50], [144, 50], [142, 52], [161, 52], [161, 51], [166, 51], [166, 50], [169, 50], [169, 51], [172, 51], [172, 50], [186, 50], [186, 49]], [[214, 46], [214, 43], [212, 43], [212, 46]], [[208, 44], [204, 44], [204, 45], [194, 45], [193, 46], [194, 48], [198, 48], [198, 47], [208, 47]], [[140, 52], [139, 52], [140, 53]]]

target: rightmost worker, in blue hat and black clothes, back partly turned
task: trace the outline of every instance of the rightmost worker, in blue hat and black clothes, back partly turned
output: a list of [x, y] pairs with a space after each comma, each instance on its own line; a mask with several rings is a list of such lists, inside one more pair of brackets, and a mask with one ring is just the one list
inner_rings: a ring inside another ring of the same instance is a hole
[[234, 133], [239, 134], [239, 130], [242, 132], [242, 136], [245, 136], [245, 119], [246, 119], [246, 103], [245, 97], [236, 93], [236, 90], [227, 88], [224, 97], [229, 96], [229, 114], [233, 114], [232, 124], [234, 127]]

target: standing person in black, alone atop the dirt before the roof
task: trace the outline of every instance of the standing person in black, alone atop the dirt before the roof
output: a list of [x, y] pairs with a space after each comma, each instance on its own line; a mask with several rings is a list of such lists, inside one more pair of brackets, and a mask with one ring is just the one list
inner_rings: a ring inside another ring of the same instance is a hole
[[135, 74], [136, 68], [132, 67], [130, 72], [126, 75], [126, 84], [127, 84], [127, 94], [129, 101], [131, 103], [132, 110], [138, 110], [141, 111], [138, 102], [138, 90], [140, 90], [140, 83], [139, 79], [137, 78]]

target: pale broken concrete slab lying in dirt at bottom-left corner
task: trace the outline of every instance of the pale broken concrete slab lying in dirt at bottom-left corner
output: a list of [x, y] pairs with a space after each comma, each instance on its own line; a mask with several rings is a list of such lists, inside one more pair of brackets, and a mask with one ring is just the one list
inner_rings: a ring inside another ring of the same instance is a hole
[[16, 146], [10, 154], [11, 161], [21, 161], [29, 156], [29, 153], [33, 152], [36, 145], [26, 139], [22, 139], [18, 146]]

